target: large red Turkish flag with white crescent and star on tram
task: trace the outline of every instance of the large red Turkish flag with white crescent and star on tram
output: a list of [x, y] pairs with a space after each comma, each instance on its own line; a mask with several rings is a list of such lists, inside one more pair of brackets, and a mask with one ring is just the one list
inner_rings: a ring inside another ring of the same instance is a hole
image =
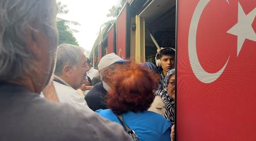
[[256, 140], [256, 1], [178, 0], [177, 140]]

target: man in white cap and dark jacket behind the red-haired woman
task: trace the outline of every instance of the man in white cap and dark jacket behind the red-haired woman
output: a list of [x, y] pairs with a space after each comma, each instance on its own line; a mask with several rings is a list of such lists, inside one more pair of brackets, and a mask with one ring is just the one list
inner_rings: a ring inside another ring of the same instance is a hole
[[123, 60], [115, 53], [105, 55], [101, 58], [98, 64], [99, 73], [102, 79], [102, 82], [97, 83], [93, 89], [91, 89], [86, 97], [88, 106], [92, 110], [106, 109], [106, 95], [112, 86], [112, 77], [115, 74], [116, 70], [120, 69], [122, 64], [127, 62]]

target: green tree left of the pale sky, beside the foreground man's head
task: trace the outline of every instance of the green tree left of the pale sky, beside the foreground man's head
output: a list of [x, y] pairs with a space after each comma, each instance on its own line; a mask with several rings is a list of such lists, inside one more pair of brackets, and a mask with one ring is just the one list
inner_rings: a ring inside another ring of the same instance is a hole
[[[66, 5], [62, 5], [60, 2], [57, 3], [58, 5], [58, 14], [67, 14], [69, 11], [66, 9]], [[61, 43], [69, 43], [73, 45], [78, 45], [76, 38], [74, 37], [73, 33], [78, 32], [74, 29], [71, 29], [70, 25], [79, 25], [78, 22], [69, 21], [62, 18], [57, 17], [57, 29], [59, 32], [59, 41], [58, 44]]]

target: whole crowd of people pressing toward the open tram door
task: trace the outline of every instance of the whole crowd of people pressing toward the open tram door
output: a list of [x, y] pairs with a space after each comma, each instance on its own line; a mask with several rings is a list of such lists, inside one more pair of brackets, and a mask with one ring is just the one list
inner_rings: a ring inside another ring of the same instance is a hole
[[174, 140], [175, 49], [95, 69], [80, 46], [57, 46], [55, 1], [0, 11], [0, 140]]

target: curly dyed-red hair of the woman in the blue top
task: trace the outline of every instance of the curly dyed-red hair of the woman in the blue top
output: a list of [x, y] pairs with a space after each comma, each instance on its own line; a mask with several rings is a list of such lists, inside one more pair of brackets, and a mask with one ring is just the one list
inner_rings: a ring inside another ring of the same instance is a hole
[[129, 64], [113, 78], [114, 84], [109, 91], [108, 107], [116, 114], [127, 111], [147, 110], [158, 87], [159, 77], [141, 65]]

